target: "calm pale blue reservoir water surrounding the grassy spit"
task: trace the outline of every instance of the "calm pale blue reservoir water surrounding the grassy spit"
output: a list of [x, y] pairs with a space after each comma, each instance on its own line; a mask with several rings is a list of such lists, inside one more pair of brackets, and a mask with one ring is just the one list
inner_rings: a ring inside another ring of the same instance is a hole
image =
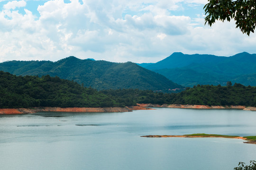
[[140, 137], [256, 136], [256, 111], [155, 109], [0, 115], [0, 169], [233, 170], [256, 160], [242, 139]]

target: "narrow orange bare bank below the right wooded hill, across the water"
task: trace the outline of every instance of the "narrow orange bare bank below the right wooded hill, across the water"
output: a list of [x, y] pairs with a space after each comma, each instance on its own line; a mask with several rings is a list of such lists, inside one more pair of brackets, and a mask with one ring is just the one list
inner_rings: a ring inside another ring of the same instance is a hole
[[192, 105], [192, 104], [145, 104], [137, 103], [141, 107], [164, 107], [164, 108], [181, 108], [181, 109], [239, 109], [239, 110], [251, 110], [256, 111], [256, 107], [246, 106], [208, 106], [208, 105]]

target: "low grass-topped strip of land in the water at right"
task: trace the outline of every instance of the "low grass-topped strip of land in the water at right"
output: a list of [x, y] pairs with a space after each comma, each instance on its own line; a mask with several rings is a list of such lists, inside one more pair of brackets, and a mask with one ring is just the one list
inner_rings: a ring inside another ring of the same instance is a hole
[[140, 137], [224, 137], [233, 139], [247, 140], [246, 144], [256, 144], [256, 136], [229, 136], [229, 135], [215, 135], [215, 134], [190, 134], [190, 135], [146, 135]]

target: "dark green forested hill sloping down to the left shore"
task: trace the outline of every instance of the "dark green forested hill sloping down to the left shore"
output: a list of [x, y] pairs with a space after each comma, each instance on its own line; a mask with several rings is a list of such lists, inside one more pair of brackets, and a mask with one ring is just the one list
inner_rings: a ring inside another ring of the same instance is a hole
[[15, 76], [0, 71], [0, 108], [112, 106], [120, 103], [110, 95], [70, 80], [49, 75]]

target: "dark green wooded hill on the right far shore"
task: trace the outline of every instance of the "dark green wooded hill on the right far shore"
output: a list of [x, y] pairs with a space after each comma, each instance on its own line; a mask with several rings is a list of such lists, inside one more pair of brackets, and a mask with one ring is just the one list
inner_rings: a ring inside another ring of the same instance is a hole
[[256, 87], [197, 85], [175, 95], [174, 104], [256, 106]]

